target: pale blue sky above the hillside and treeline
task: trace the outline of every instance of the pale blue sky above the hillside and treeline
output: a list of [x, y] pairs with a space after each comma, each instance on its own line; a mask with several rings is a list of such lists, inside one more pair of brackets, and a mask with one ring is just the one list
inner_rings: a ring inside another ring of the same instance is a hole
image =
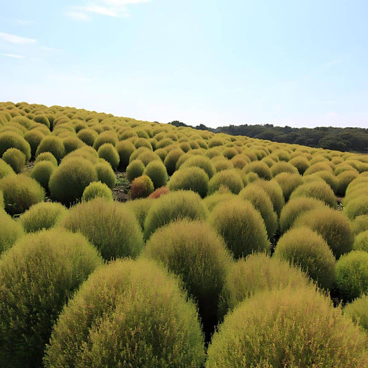
[[0, 101], [368, 128], [368, 1], [2, 1]]

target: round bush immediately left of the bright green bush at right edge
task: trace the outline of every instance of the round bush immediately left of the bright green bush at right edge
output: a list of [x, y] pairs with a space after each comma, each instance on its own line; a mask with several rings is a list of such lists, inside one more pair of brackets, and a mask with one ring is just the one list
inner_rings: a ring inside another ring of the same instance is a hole
[[336, 262], [329, 245], [307, 227], [297, 227], [284, 233], [276, 245], [274, 256], [300, 267], [324, 289], [330, 289], [335, 281]]

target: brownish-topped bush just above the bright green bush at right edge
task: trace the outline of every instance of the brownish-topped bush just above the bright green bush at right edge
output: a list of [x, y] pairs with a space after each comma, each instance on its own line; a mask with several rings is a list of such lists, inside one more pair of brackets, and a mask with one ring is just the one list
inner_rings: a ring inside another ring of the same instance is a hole
[[322, 235], [336, 259], [353, 249], [354, 234], [349, 219], [342, 211], [317, 207], [300, 215], [294, 226], [307, 226]]

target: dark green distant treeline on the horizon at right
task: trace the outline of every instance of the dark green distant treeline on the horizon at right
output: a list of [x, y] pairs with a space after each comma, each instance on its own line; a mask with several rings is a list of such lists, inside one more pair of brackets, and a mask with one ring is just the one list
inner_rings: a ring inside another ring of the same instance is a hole
[[[189, 126], [175, 120], [169, 124]], [[268, 139], [273, 142], [300, 144], [309, 147], [321, 147], [336, 151], [358, 151], [368, 153], [368, 129], [335, 128], [320, 126], [317, 128], [291, 128], [291, 126], [273, 126], [273, 124], [230, 125], [208, 128], [204, 124], [194, 127], [198, 130], [209, 130], [213, 133], [230, 135], [246, 135], [247, 137]]]

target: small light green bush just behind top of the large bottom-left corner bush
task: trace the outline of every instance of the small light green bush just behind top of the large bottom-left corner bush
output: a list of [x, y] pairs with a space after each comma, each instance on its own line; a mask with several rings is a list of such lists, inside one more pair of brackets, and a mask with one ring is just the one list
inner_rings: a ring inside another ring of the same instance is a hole
[[26, 233], [35, 233], [57, 225], [66, 213], [67, 209], [60, 203], [40, 202], [22, 213], [19, 222]]

